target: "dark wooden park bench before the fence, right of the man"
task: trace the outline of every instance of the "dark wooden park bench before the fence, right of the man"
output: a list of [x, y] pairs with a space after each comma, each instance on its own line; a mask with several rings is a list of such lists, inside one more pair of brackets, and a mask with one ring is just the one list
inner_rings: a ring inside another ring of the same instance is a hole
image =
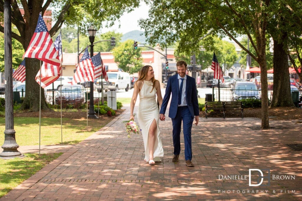
[[206, 118], [209, 110], [223, 111], [223, 119], [227, 110], [240, 110], [241, 118], [243, 118], [243, 104], [239, 101], [206, 101], [205, 108]]

